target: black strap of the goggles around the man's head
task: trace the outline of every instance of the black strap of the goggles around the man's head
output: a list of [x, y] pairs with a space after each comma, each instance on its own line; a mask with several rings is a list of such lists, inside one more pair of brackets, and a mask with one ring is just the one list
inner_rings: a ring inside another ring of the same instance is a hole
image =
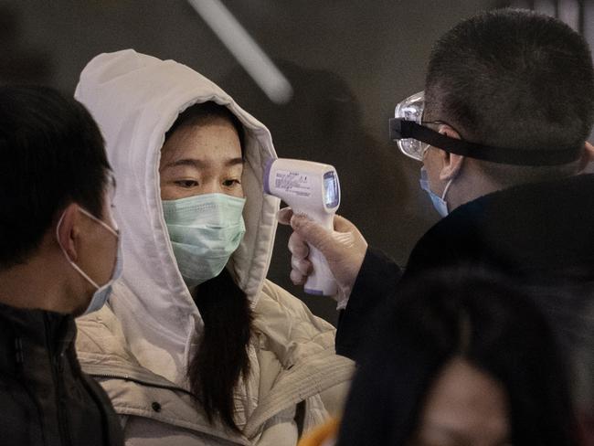
[[570, 147], [559, 150], [525, 150], [490, 147], [450, 138], [414, 121], [391, 118], [389, 124], [392, 141], [413, 138], [450, 154], [459, 154], [504, 165], [566, 165], [576, 161], [582, 149], [581, 147]]

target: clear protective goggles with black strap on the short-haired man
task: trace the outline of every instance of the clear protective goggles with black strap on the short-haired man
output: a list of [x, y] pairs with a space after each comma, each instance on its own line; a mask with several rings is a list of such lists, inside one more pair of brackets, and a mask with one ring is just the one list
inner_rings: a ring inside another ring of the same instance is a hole
[[419, 91], [401, 101], [396, 106], [394, 118], [389, 120], [390, 139], [398, 144], [403, 154], [417, 161], [423, 161], [430, 145], [450, 154], [504, 165], [565, 165], [576, 161], [581, 154], [582, 147], [557, 150], [510, 149], [450, 138], [423, 125], [445, 123], [423, 122], [424, 108], [425, 93]]

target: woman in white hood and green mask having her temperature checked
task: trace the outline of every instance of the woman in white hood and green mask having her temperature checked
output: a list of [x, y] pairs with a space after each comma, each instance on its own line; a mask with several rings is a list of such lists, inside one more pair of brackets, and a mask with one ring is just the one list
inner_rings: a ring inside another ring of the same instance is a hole
[[352, 364], [332, 325], [265, 280], [270, 133], [196, 71], [133, 50], [91, 60], [75, 96], [106, 140], [124, 257], [77, 348], [126, 443], [294, 445]]

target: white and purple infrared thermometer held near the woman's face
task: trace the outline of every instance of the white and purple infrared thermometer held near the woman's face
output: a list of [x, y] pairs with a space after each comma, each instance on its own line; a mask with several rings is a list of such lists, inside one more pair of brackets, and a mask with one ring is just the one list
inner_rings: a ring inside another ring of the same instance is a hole
[[[281, 198], [294, 214], [305, 215], [331, 233], [334, 231], [340, 185], [332, 165], [287, 158], [270, 160], [264, 172], [264, 192]], [[338, 290], [328, 262], [319, 250], [311, 245], [309, 248], [313, 272], [305, 282], [304, 291], [334, 296]]]

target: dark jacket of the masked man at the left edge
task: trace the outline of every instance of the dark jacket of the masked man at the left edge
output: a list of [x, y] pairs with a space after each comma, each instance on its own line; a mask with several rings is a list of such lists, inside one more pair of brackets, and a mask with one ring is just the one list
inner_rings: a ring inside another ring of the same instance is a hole
[[122, 445], [109, 398], [80, 371], [71, 316], [0, 304], [0, 443]]

